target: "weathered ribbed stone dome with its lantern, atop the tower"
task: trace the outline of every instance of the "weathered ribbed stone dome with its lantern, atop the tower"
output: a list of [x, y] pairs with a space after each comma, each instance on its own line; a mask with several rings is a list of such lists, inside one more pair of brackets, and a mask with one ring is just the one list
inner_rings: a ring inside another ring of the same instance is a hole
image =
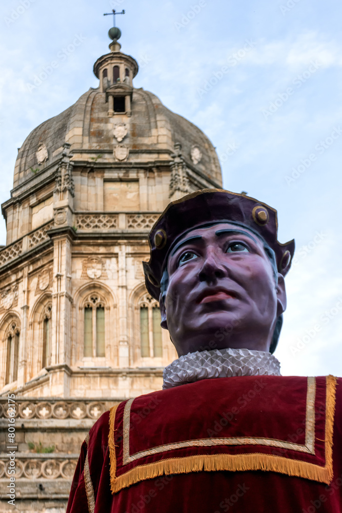
[[65, 143], [71, 145], [74, 161], [124, 166], [152, 161], [170, 166], [176, 145], [193, 182], [191, 189], [222, 186], [218, 157], [208, 137], [153, 93], [135, 89], [132, 80], [138, 65], [118, 47], [116, 43], [115, 51], [99, 57], [94, 65], [98, 88], [90, 88], [28, 135], [18, 151], [14, 188], [33, 174], [53, 172]]

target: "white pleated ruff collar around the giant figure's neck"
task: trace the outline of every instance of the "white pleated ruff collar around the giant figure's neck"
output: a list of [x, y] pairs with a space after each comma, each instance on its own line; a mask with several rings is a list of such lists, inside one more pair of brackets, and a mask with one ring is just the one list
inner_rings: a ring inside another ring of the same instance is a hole
[[185, 354], [165, 367], [163, 389], [208, 378], [280, 376], [280, 363], [268, 351], [213, 349]]

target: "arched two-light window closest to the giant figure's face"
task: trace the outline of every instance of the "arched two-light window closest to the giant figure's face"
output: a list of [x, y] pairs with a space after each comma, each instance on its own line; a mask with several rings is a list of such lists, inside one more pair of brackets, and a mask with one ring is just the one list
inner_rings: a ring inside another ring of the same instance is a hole
[[146, 294], [139, 301], [140, 348], [142, 357], [162, 357], [162, 327], [158, 303]]

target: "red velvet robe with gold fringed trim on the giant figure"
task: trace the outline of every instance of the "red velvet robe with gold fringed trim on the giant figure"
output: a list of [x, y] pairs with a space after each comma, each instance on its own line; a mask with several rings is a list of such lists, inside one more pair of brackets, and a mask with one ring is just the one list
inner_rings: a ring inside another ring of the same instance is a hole
[[342, 513], [341, 385], [216, 378], [124, 401], [83, 443], [67, 513]]

